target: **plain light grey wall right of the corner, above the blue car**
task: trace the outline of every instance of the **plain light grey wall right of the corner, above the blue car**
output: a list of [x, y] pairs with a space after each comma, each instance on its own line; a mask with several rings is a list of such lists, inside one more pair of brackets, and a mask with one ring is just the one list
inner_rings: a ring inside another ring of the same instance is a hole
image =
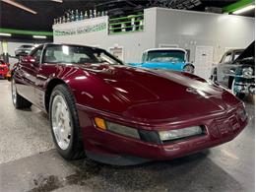
[[196, 46], [213, 46], [213, 62], [219, 62], [226, 47], [247, 47], [254, 40], [253, 18], [157, 9], [156, 44], [178, 44], [190, 49], [195, 61]]

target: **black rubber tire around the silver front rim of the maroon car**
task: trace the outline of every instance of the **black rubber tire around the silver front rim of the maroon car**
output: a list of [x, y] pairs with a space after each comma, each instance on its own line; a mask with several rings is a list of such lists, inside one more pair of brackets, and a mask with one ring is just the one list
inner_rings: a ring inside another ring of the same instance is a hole
[[[70, 119], [71, 119], [71, 137], [70, 143], [66, 150], [62, 150], [55, 138], [53, 132], [53, 125], [52, 125], [52, 103], [55, 96], [62, 96], [67, 104], [69, 109]], [[77, 108], [75, 105], [75, 99], [73, 94], [69, 91], [69, 89], [61, 84], [57, 85], [50, 96], [50, 104], [49, 104], [49, 119], [51, 125], [51, 134], [56, 146], [58, 153], [65, 159], [65, 160], [79, 160], [85, 158], [85, 151], [83, 146], [82, 134], [79, 124], [79, 118], [77, 114]]]

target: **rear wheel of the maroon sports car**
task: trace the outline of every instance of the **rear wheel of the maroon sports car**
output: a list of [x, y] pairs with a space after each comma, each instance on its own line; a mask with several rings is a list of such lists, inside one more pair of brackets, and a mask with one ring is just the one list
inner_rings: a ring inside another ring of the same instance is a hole
[[[16, 88], [16, 84], [15, 84], [14, 79], [11, 82], [11, 90], [12, 90], [12, 100], [13, 100], [13, 104], [14, 104], [15, 108], [19, 108], [19, 109], [21, 109], [21, 108], [30, 108], [32, 106], [32, 102], [30, 102], [29, 100], [27, 100], [23, 96], [20, 96], [17, 93], [17, 88]], [[15, 94], [14, 91], [16, 92], [16, 98], [14, 96], [14, 94]]]

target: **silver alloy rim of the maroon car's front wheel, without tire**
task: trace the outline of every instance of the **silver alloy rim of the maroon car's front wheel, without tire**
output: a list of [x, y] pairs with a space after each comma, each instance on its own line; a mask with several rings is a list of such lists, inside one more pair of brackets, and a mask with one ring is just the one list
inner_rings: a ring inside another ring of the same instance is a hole
[[56, 143], [67, 150], [71, 141], [71, 115], [63, 96], [54, 96], [51, 107], [51, 123]]

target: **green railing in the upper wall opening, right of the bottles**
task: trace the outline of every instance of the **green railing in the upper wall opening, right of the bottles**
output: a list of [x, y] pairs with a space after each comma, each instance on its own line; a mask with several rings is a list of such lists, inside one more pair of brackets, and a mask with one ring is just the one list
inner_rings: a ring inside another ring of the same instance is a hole
[[109, 18], [108, 33], [143, 32], [144, 14], [138, 13], [126, 17]]

